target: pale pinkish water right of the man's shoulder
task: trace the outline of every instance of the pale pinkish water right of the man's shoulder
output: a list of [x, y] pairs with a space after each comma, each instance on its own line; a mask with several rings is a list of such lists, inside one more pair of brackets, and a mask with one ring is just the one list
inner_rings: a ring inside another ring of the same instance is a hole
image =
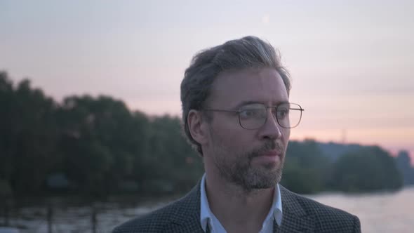
[[357, 215], [364, 233], [414, 232], [414, 187], [394, 193], [318, 194], [307, 197]]

